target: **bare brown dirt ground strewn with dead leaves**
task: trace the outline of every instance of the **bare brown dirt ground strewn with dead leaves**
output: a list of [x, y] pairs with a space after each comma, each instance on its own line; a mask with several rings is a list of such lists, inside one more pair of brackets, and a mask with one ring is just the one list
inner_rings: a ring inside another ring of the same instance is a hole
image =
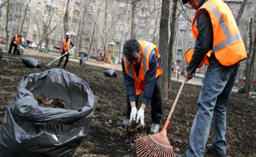
[[[49, 58], [35, 57], [42, 64], [51, 62]], [[51, 68], [57, 66], [53, 62]], [[64, 63], [64, 61], [63, 61]], [[62, 64], [63, 64], [62, 63]], [[6, 112], [7, 105], [16, 94], [17, 85], [21, 78], [30, 73], [39, 73], [49, 68], [28, 68], [20, 56], [9, 56], [4, 53], [0, 59], [0, 127]], [[96, 98], [96, 109], [88, 135], [76, 149], [74, 156], [135, 156], [136, 136], [146, 136], [151, 125], [150, 105], [145, 110], [145, 127], [123, 129], [121, 122], [125, 119], [126, 94], [122, 80], [122, 72], [117, 71], [117, 77], [107, 77], [103, 72], [107, 70], [100, 67], [86, 65], [80, 67], [77, 62], [68, 62], [66, 71], [76, 74], [87, 82]], [[160, 122], [162, 129], [175, 100], [181, 83], [172, 82], [172, 90], [169, 90], [169, 100], [163, 101], [163, 115]], [[172, 115], [167, 133], [170, 144], [175, 151], [184, 153], [188, 148], [189, 133], [194, 116], [197, 112], [197, 98], [201, 86], [185, 84], [177, 106]], [[140, 96], [139, 102], [141, 102]], [[227, 109], [227, 156], [255, 156], [256, 151], [256, 99], [246, 99], [244, 95], [232, 93]], [[214, 138], [214, 126], [212, 124], [209, 140]], [[205, 151], [206, 157], [214, 156]]]

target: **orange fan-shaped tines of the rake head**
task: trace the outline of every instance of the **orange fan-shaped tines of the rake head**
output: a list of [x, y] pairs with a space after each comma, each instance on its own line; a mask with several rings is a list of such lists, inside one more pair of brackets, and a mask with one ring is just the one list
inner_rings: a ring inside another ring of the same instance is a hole
[[162, 131], [153, 135], [148, 135], [136, 140], [136, 155], [138, 157], [175, 157], [173, 147]]

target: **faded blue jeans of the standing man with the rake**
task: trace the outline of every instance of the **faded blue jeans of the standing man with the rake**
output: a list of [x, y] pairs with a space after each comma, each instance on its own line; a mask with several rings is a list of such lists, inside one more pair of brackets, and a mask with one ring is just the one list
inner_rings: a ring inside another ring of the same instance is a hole
[[213, 146], [218, 153], [226, 154], [226, 110], [238, 69], [239, 63], [223, 66], [214, 56], [210, 57], [210, 65], [197, 101], [198, 112], [189, 136], [189, 149], [185, 152], [188, 157], [204, 156], [213, 115]]

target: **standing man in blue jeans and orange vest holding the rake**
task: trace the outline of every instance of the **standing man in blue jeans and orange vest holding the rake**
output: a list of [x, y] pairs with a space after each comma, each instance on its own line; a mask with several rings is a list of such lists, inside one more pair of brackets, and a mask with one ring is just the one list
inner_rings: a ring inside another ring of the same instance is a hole
[[240, 61], [247, 57], [247, 53], [236, 20], [226, 3], [222, 0], [182, 0], [182, 3], [189, 3], [196, 10], [192, 21], [196, 41], [186, 53], [186, 82], [192, 79], [203, 62], [208, 67], [197, 100], [198, 111], [190, 131], [189, 149], [176, 157], [204, 156], [213, 118], [215, 137], [206, 147], [218, 157], [225, 157], [227, 106]]

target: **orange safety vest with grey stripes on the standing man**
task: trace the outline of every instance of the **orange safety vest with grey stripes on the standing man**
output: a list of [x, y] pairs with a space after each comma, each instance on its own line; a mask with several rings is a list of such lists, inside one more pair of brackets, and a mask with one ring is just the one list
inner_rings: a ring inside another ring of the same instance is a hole
[[[211, 53], [214, 53], [218, 62], [225, 66], [233, 65], [247, 58], [233, 13], [227, 4], [221, 0], [208, 0], [196, 11], [192, 22], [194, 38], [196, 39], [198, 35], [198, 29], [195, 25], [196, 17], [200, 11], [204, 10], [209, 13], [213, 25], [213, 50], [205, 55], [201, 63], [206, 62], [209, 65], [208, 57], [211, 56]], [[193, 53], [192, 49], [189, 51], [188, 53]], [[189, 57], [192, 58], [192, 55], [186, 55], [187, 63], [191, 61]]]

